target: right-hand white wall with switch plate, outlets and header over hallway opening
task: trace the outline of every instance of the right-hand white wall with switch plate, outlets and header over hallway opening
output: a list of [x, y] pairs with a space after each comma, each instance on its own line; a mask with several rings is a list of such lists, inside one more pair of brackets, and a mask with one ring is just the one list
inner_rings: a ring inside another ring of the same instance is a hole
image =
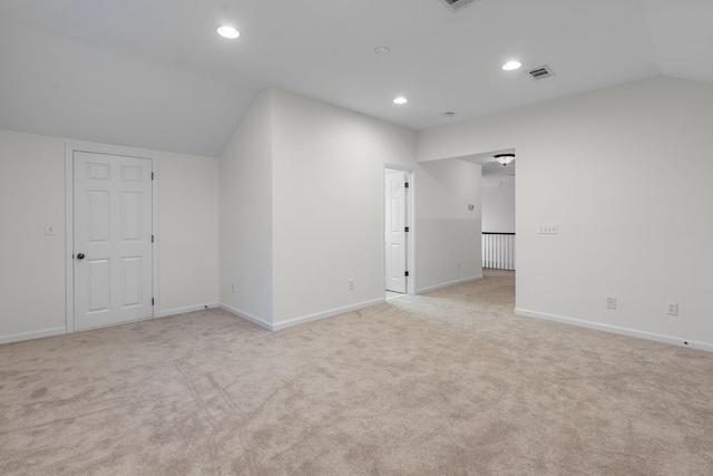
[[419, 159], [516, 149], [519, 311], [712, 350], [711, 124], [713, 85], [658, 78], [426, 130]]

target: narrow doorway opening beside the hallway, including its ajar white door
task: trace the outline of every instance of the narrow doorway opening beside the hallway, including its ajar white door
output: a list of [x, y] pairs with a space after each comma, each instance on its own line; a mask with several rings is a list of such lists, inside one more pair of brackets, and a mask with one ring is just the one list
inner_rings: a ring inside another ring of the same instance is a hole
[[409, 293], [411, 275], [411, 175], [398, 166], [384, 168], [384, 292], [385, 299]]

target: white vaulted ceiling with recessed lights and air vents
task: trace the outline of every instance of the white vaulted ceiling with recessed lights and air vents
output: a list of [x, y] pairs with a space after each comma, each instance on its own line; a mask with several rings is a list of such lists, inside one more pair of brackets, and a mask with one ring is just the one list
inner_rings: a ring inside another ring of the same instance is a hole
[[[709, 0], [1, 0], [0, 128], [217, 156], [275, 86], [419, 130], [660, 75], [713, 81], [711, 20]], [[533, 80], [543, 65], [556, 76]]]

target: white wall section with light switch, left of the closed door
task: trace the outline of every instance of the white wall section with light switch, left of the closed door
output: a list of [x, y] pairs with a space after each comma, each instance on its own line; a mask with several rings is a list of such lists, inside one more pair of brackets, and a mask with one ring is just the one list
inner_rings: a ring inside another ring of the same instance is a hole
[[64, 143], [0, 130], [0, 342], [64, 332]]

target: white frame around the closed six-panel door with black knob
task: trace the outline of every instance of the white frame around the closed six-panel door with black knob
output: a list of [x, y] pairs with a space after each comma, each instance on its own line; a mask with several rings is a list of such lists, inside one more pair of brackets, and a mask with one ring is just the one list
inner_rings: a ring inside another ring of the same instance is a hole
[[154, 293], [154, 307], [152, 318], [158, 317], [160, 309], [158, 294], [158, 154], [135, 150], [113, 150], [102, 147], [70, 145], [65, 149], [65, 232], [66, 232], [66, 280], [67, 280], [67, 333], [75, 331], [75, 152], [88, 152], [92, 154], [120, 155], [123, 157], [148, 158], [152, 161], [152, 227], [154, 245], [152, 250], [152, 291]]

